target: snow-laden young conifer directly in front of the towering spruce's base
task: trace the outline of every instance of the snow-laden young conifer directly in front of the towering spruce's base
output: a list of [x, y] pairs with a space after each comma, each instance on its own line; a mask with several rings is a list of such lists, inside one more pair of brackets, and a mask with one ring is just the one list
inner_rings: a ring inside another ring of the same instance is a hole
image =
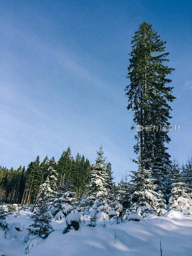
[[134, 186], [134, 192], [130, 196], [130, 211], [136, 212], [141, 216], [145, 216], [145, 213], [159, 213], [166, 208], [162, 200], [162, 194], [157, 193], [154, 180], [149, 178], [151, 175], [150, 170], [141, 168], [139, 171], [132, 171], [133, 175], [131, 182]]

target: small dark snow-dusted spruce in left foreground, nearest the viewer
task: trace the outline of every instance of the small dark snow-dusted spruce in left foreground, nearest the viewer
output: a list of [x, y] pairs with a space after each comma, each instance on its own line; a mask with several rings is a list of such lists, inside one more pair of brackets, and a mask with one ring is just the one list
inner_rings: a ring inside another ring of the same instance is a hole
[[50, 225], [50, 217], [47, 205], [47, 197], [44, 193], [41, 194], [36, 204], [36, 211], [33, 215], [30, 216], [30, 219], [33, 220], [33, 223], [27, 228], [28, 235], [41, 236], [43, 238], [47, 237], [49, 232], [53, 230]]

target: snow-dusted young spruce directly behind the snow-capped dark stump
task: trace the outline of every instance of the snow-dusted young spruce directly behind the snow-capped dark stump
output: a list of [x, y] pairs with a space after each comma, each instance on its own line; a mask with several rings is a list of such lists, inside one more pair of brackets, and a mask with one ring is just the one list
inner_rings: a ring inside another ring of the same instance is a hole
[[53, 215], [56, 218], [66, 217], [73, 210], [76, 199], [72, 189], [71, 181], [64, 179], [63, 184], [58, 188], [57, 197], [53, 201], [55, 208]]

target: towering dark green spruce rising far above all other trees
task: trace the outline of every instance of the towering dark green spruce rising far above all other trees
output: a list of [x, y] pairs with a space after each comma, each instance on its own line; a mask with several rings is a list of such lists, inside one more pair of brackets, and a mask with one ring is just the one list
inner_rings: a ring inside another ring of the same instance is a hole
[[[147, 22], [139, 26], [132, 38], [127, 76], [130, 84], [125, 89], [129, 102], [127, 109], [134, 112], [134, 123], [143, 127], [168, 126], [172, 108], [167, 101], [173, 101], [175, 97], [171, 95], [173, 87], [165, 86], [172, 82], [166, 76], [174, 70], [163, 65], [165, 61], [169, 61], [166, 59], [169, 52], [164, 52], [166, 42], [160, 39], [152, 25]], [[158, 132], [159, 136], [156, 135], [157, 129], [148, 131], [144, 128], [135, 136], [137, 144], [134, 146], [134, 152], [140, 155], [140, 170], [151, 168], [151, 158], [157, 159], [159, 151], [163, 152], [164, 156], [167, 155], [164, 142], [170, 141], [168, 131], [164, 129]], [[154, 149], [154, 145], [158, 150]]]

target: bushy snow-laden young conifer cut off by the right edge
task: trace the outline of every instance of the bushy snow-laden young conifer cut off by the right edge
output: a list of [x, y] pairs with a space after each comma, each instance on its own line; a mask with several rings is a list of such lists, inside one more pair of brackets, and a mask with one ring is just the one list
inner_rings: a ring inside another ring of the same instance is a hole
[[192, 194], [187, 193], [188, 191], [185, 183], [172, 183], [169, 210], [181, 210], [184, 214], [192, 215]]

